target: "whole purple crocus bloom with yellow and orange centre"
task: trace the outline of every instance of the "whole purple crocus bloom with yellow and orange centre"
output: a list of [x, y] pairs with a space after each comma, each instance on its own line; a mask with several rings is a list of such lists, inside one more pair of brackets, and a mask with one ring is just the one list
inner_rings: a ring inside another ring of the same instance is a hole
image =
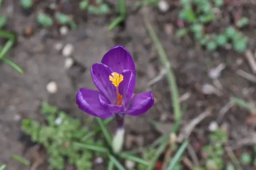
[[[80, 88], [76, 95], [79, 109], [90, 115], [101, 118], [137, 116], [154, 104], [152, 92], [134, 94], [135, 65], [123, 46], [113, 46], [102, 62], [94, 63], [91, 77], [99, 91]], [[123, 119], [118, 122], [122, 126]]]

